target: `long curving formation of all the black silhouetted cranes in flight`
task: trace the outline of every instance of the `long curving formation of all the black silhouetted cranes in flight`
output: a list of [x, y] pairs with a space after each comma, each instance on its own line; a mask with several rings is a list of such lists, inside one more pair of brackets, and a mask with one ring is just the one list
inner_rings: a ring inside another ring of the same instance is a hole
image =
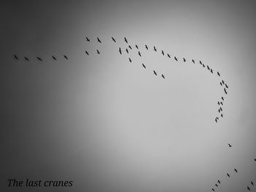
[[[89, 38], [89, 37], [86, 37], [85, 39], [86, 39], [87, 43], [92, 42], [91, 38]], [[224, 115], [224, 104], [225, 104], [225, 99], [226, 99], [226, 96], [227, 96], [227, 93], [228, 93], [229, 85], [227, 85], [226, 80], [223, 80], [222, 74], [219, 71], [211, 68], [211, 66], [203, 64], [203, 61], [195, 60], [195, 58], [192, 58], [192, 59], [188, 59], [188, 58], [184, 58], [184, 57], [178, 58], [177, 55], [167, 53], [165, 50], [158, 51], [158, 48], [156, 47], [156, 45], [154, 45], [154, 46], [148, 46], [148, 44], [142, 45], [142, 46], [139, 46], [138, 44], [132, 45], [131, 43], [129, 43], [127, 37], [124, 37], [124, 39], [121, 39], [119, 42], [114, 37], [111, 37], [109, 40], [112, 41], [113, 44], [118, 45], [118, 46], [116, 46], [116, 47], [118, 47], [116, 53], [118, 53], [118, 55], [126, 55], [127, 56], [127, 62], [129, 64], [132, 64], [133, 61], [135, 60], [135, 58], [132, 58], [132, 55], [130, 55], [131, 51], [136, 51], [138, 53], [136, 55], [138, 55], [138, 57], [140, 57], [140, 58], [143, 58], [143, 52], [151, 52], [151, 53], [158, 53], [159, 52], [160, 55], [162, 55], [163, 57], [165, 57], [167, 59], [170, 59], [170, 61], [175, 62], [176, 64], [185, 64], [185, 63], [186, 64], [197, 64], [198, 66], [201, 66], [202, 69], [205, 69], [206, 71], [208, 71], [210, 74], [216, 75], [216, 77], [218, 78], [218, 83], [219, 83], [220, 87], [223, 90], [223, 93], [222, 93], [221, 96], [219, 96], [219, 99], [217, 101], [217, 116], [214, 119], [214, 121], [216, 123], [218, 123], [219, 120], [224, 118], [224, 116], [225, 116]], [[102, 45], [102, 43], [104, 43], [104, 41], [102, 41], [102, 39], [100, 39], [99, 37], [96, 38], [96, 42], [99, 43], [99, 45]], [[125, 45], [121, 46], [123, 44], [125, 44]], [[135, 49], [132, 49], [132, 47], [135, 47]], [[99, 49], [96, 49], [94, 51], [94, 53], [93, 52], [90, 53], [89, 50], [85, 50], [85, 55], [86, 56], [91, 56], [91, 55], [94, 55], [94, 54], [99, 55], [100, 53], [101, 52], [99, 51]], [[14, 54], [13, 58], [18, 61], [22, 57], [19, 57], [17, 54]], [[39, 62], [43, 62], [45, 60], [45, 58], [41, 58], [41, 57], [39, 57], [39, 55], [37, 55], [33, 58], [36, 61], [39, 61]], [[53, 61], [58, 61], [59, 59], [61, 59], [61, 58], [57, 58], [56, 55], [50, 55], [50, 58], [52, 58]], [[69, 59], [67, 57], [67, 55], [63, 55], [62, 58], [64, 60]], [[32, 58], [29, 58], [27, 55], [23, 56], [23, 59], [25, 61], [28, 61], [28, 62], [32, 61]], [[145, 70], [147, 69], [145, 63], [142, 63], [141, 65], [142, 65], [143, 69], [145, 69]], [[157, 69], [154, 69], [151, 73], [155, 77], [162, 78], [162, 80], [165, 80], [167, 78], [165, 76], [165, 74], [163, 74], [161, 72], [158, 72]], [[230, 143], [228, 143], [228, 147], [231, 148], [233, 146]], [[256, 163], [256, 158], [254, 159], [254, 161]], [[232, 178], [232, 177], [235, 177], [236, 174], [239, 174], [239, 172], [238, 172], [237, 168], [234, 168], [233, 172], [226, 172], [223, 177]], [[211, 188], [211, 191], [216, 191], [217, 188], [219, 188], [219, 186], [221, 184], [222, 184], [221, 180], [217, 179], [217, 182], [214, 183], [214, 187]], [[254, 182], [249, 181], [249, 185], [246, 186], [246, 190], [251, 191], [253, 186], [254, 186]]]

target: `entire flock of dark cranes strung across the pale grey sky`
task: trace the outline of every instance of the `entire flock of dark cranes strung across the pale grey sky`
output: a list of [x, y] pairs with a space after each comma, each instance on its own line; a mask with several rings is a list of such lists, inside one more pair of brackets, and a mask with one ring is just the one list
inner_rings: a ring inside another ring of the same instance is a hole
[[[114, 37], [111, 37], [111, 40], [112, 40], [113, 43], [115, 43], [115, 44], [117, 43], [117, 41], [116, 41], [116, 39], [115, 39]], [[89, 37], [86, 37], [86, 42], [91, 42], [91, 39], [90, 39]], [[102, 44], [102, 40], [99, 39], [99, 37], [97, 37], [97, 42], [98, 42], [99, 44]], [[142, 54], [142, 53], [143, 53], [143, 50], [140, 50], [138, 45], [136, 45], [136, 44], [135, 44], [135, 45], [129, 44], [129, 42], [128, 42], [128, 40], [127, 40], [127, 37], [124, 37], [124, 42], [125, 42], [125, 44], [126, 44], [127, 46], [125, 46], [125, 47], [118, 47], [118, 53], [119, 53], [120, 55], [123, 55], [123, 54], [129, 55], [129, 53], [132, 51], [132, 47], [134, 47], [134, 50], [138, 51], [138, 56], [139, 56], [139, 57], [142, 57], [142, 55], [143, 55], [143, 54]], [[148, 45], [145, 45], [143, 49], [146, 50], [146, 51], [149, 51]], [[152, 50], [153, 50], [155, 53], [157, 53], [157, 47], [156, 47], [156, 46], [153, 46], [153, 47], [152, 47]], [[96, 49], [95, 53], [96, 53], [96, 54], [100, 54], [100, 52], [99, 52], [98, 49]], [[181, 58], [181, 59], [180, 59], [180, 58], [178, 58], [176, 55], [171, 55], [171, 54], [169, 54], [169, 53], [165, 53], [164, 50], [161, 50], [160, 53], [162, 54], [162, 56], [167, 55], [167, 58], [173, 59], [173, 61], [175, 61], [175, 62], [178, 62], [178, 61], [181, 61], [181, 62], [183, 62], [183, 63], [189, 62], [189, 60], [188, 60], [187, 58]], [[91, 53], [89, 52], [89, 50], [85, 50], [85, 54], [89, 56]], [[63, 56], [64, 56], [65, 59], [68, 60], [67, 55], [63, 55]], [[17, 54], [14, 54], [14, 58], [15, 58], [16, 60], [19, 60]], [[28, 57], [24, 56], [23, 58], [24, 58], [26, 61], [29, 61], [29, 58], [28, 58]], [[39, 56], [37, 56], [36, 58], [37, 58], [38, 61], [42, 61], [42, 58], [40, 58]], [[56, 58], [55, 55], [51, 55], [51, 58], [52, 58], [54, 61], [57, 60], [57, 58]], [[128, 61], [129, 61], [129, 63], [132, 63], [132, 58], [129, 57], [129, 56], [128, 56]], [[191, 59], [190, 62], [192, 62], [192, 64], [196, 64], [195, 59]], [[208, 66], [208, 65], [206, 65], [206, 64], [203, 64], [202, 61], [199, 60], [199, 61], [198, 61], [198, 64], [200, 64], [200, 66], [202, 66], [203, 68], [207, 69], [208, 72], [210, 72], [211, 74], [216, 74], [217, 77], [221, 77], [220, 72], [216, 71], [216, 73], [215, 73], [215, 70], [214, 70], [214, 69], [212, 69], [210, 66]], [[143, 67], [144, 69], [146, 69], [146, 64], [143, 64], [143, 63], [142, 63], [142, 67]], [[153, 74], [154, 74], [155, 76], [157, 76], [157, 75], [158, 75], [158, 72], [157, 72], [156, 70], [153, 70]], [[161, 73], [160, 73], [160, 74], [161, 74]], [[165, 77], [165, 74], [161, 74], [161, 77], [162, 77], [162, 79], [165, 79], [165, 78], [166, 78], [166, 77]], [[219, 85], [220, 85], [220, 86], [222, 87], [222, 89], [223, 89], [223, 95], [227, 95], [227, 89], [229, 88], [229, 86], [227, 85], [227, 83], [225, 82], [225, 80], [220, 80]], [[218, 114], [217, 117], [214, 119], [216, 123], [219, 121], [220, 118], [223, 118], [223, 117], [224, 117], [224, 115], [223, 115], [223, 106], [224, 106], [225, 97], [224, 97], [223, 95], [220, 96], [219, 101], [217, 101], [219, 114]], [[228, 143], [228, 147], [232, 147], [232, 145], [230, 145], [230, 143]], [[254, 161], [256, 162], [256, 158], [254, 159]], [[237, 169], [237, 168], [234, 168], [234, 169], [233, 169], [233, 172], [236, 172], [236, 174], [237, 174], [237, 173], [238, 173], [238, 169]], [[231, 177], [230, 175], [231, 175], [231, 174], [230, 174], [229, 172], [226, 173], [226, 177]], [[217, 180], [217, 183], [214, 184], [214, 188], [211, 188], [211, 190], [212, 190], [212, 191], [215, 191], [215, 190], [219, 187], [220, 184], [221, 184], [221, 180], [218, 179], [218, 180]], [[255, 183], [254, 183], [253, 181], [250, 181], [249, 185], [246, 186], [246, 189], [247, 189], [248, 191], [251, 191], [251, 188], [252, 188], [252, 186], [254, 186], [254, 185], [255, 185]], [[215, 187], [216, 187], [216, 188], [215, 188]]]

